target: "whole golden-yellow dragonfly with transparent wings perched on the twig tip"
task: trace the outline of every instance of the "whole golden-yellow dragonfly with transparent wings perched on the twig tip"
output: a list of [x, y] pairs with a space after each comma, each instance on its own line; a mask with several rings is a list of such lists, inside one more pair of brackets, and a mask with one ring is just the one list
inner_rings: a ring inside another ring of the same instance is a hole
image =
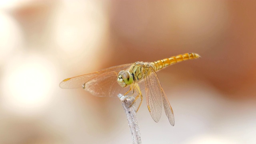
[[146, 101], [151, 117], [160, 120], [162, 104], [165, 114], [174, 126], [172, 107], [160, 84], [157, 71], [177, 62], [200, 58], [196, 53], [186, 53], [154, 62], [135, 62], [113, 66], [97, 72], [66, 78], [60, 82], [60, 88], [83, 88], [94, 96], [116, 97], [118, 94], [134, 96], [134, 102], [140, 98], [138, 112], [142, 104], [142, 89], [146, 92]]

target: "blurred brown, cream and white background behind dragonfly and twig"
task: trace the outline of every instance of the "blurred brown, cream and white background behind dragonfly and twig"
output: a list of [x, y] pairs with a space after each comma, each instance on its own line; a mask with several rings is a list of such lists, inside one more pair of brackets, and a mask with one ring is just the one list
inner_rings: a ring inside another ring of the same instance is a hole
[[59, 82], [187, 52], [158, 73], [175, 126], [144, 99], [142, 142], [255, 144], [255, 46], [252, 0], [1, 0], [0, 144], [130, 144], [118, 98]]

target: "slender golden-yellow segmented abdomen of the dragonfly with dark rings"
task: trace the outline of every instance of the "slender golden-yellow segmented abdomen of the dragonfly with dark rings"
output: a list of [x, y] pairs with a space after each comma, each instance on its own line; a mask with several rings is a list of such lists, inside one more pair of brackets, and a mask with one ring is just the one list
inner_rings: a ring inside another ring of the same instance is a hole
[[172, 56], [170, 58], [165, 58], [162, 60], [157, 60], [157, 61], [151, 62], [151, 64], [153, 65], [154, 70], [156, 71], [156, 70], [160, 70], [166, 66], [169, 66], [171, 64], [175, 64], [177, 62], [182, 62], [184, 60], [192, 60], [195, 58], [200, 58], [200, 56], [196, 53], [186, 53], [186, 54], [180, 54], [177, 56]]

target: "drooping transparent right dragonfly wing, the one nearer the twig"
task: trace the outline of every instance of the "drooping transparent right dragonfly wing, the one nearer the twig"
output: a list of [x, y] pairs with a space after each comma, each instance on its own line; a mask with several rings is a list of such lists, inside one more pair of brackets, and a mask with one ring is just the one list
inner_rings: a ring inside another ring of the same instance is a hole
[[155, 122], [158, 122], [162, 113], [162, 91], [156, 72], [152, 67], [145, 67], [145, 91], [148, 110]]

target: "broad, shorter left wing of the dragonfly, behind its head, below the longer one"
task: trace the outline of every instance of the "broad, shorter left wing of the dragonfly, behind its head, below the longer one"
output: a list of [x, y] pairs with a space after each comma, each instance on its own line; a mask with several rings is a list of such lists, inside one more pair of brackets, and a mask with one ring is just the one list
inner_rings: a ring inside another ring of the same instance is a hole
[[94, 96], [115, 97], [118, 94], [124, 94], [130, 88], [123, 88], [117, 82], [118, 72], [105, 72], [94, 76], [84, 84], [84, 89]]

